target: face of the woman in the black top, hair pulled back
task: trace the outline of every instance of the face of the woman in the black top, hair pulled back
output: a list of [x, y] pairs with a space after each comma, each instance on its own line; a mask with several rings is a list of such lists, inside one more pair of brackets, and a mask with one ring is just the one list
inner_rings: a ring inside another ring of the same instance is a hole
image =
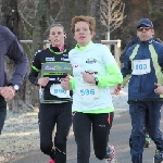
[[64, 32], [60, 26], [54, 26], [50, 29], [49, 39], [52, 43], [52, 47], [58, 47], [59, 49], [64, 45]]

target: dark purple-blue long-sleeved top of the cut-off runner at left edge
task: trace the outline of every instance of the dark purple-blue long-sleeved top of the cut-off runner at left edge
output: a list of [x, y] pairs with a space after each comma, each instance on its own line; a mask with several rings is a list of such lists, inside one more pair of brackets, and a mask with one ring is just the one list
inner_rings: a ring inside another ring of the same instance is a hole
[[[13, 75], [9, 82], [4, 72], [5, 55], [15, 63], [15, 68], [12, 70]], [[0, 87], [7, 85], [21, 86], [26, 75], [27, 66], [27, 55], [25, 54], [22, 46], [18, 43], [16, 37], [8, 27], [0, 25]]]

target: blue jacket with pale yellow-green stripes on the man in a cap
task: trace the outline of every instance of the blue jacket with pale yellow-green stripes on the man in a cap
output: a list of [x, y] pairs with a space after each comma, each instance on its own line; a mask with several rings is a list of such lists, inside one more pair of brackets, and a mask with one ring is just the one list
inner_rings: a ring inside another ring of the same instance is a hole
[[[151, 72], [143, 75], [133, 75], [133, 61], [150, 59]], [[128, 83], [128, 100], [163, 100], [156, 95], [154, 83], [163, 84], [163, 45], [150, 39], [138, 41], [131, 46], [124, 58], [122, 74], [125, 78], [130, 75]], [[128, 80], [126, 80], [128, 82]]]

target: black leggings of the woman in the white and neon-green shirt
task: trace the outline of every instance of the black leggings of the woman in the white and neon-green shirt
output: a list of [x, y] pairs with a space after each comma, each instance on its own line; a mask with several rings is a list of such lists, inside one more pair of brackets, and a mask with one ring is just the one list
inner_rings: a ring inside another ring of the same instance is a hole
[[92, 128], [93, 150], [99, 160], [106, 154], [113, 113], [89, 114], [76, 112], [73, 117], [73, 129], [77, 143], [77, 163], [89, 163], [90, 131]]

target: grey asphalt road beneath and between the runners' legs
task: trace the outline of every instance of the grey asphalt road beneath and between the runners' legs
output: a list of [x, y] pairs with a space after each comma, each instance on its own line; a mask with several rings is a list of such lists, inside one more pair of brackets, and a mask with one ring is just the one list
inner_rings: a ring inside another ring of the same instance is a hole
[[[110, 143], [115, 146], [116, 160], [118, 163], [131, 162], [128, 147], [130, 128], [128, 111], [115, 116], [113, 127], [111, 129]], [[161, 128], [163, 128], [163, 120], [161, 121]], [[143, 163], [152, 163], [154, 150], [155, 146], [153, 141], [151, 141], [150, 148], [145, 148]], [[48, 160], [49, 156], [38, 150], [17, 156], [16, 160], [11, 161], [10, 163], [48, 163]], [[67, 163], [76, 163], [76, 143], [73, 136], [67, 139]], [[104, 161], [97, 160], [95, 158], [93, 150], [91, 150], [90, 163], [104, 163]]]

